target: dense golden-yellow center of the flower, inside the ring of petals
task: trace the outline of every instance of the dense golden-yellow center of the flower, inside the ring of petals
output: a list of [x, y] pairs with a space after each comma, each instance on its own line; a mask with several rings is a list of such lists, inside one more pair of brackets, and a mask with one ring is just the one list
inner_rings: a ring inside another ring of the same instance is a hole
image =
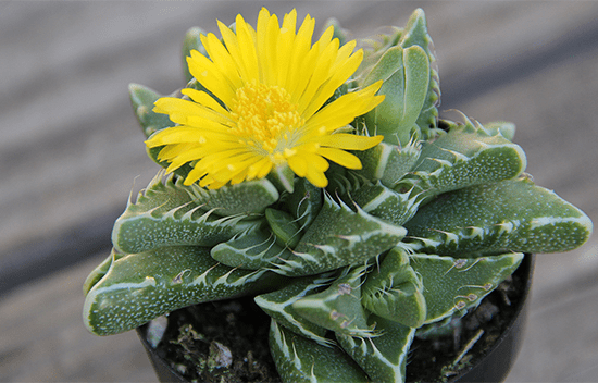
[[254, 81], [237, 89], [231, 116], [236, 122], [233, 133], [239, 143], [264, 150], [262, 155], [282, 153], [289, 148], [292, 132], [304, 124], [288, 91]]

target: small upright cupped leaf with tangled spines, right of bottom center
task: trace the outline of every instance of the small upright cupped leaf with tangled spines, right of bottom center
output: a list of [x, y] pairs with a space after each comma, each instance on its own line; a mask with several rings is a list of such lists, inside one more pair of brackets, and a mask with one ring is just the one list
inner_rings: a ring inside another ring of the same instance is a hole
[[406, 250], [395, 247], [382, 264], [367, 274], [363, 284], [363, 306], [373, 313], [410, 328], [426, 319], [421, 276], [409, 264]]

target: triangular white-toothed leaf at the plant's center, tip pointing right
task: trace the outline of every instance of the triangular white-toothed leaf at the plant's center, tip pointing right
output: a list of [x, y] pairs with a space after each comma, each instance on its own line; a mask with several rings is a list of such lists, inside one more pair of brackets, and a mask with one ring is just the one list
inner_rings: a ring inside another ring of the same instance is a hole
[[364, 262], [394, 247], [406, 233], [403, 227], [361, 209], [353, 212], [326, 194], [320, 214], [295, 248], [294, 257], [278, 265], [278, 272], [312, 275]]

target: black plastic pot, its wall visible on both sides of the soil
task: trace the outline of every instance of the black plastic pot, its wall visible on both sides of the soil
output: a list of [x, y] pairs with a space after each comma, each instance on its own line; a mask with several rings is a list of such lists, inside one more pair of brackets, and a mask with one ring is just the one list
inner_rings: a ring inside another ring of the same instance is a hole
[[[523, 343], [528, 306], [527, 296], [532, 285], [533, 269], [534, 256], [527, 255], [515, 272], [521, 275], [524, 287], [516, 302], [514, 313], [512, 318], [509, 319], [506, 331], [496, 343], [487, 349], [486, 355], [478, 358], [478, 361], [474, 362], [470, 368], [461, 370], [458, 375], [448, 380], [449, 383], [502, 382], [507, 378]], [[155, 353], [155, 349], [150, 346], [146, 337], [147, 325], [138, 328], [137, 334], [161, 382], [187, 382], [185, 378], [177, 373], [169, 362], [161, 358]]]

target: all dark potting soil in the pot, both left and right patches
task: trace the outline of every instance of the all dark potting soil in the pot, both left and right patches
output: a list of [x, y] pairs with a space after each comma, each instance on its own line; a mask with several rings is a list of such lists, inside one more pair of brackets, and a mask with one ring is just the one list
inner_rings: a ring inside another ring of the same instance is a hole
[[[446, 382], [483, 358], [509, 325], [523, 288], [521, 273], [515, 272], [448, 335], [416, 337], [407, 381]], [[269, 330], [270, 317], [252, 298], [201, 304], [169, 316], [157, 351], [189, 381], [281, 382], [270, 356]], [[463, 354], [464, 349], [469, 350]]]

